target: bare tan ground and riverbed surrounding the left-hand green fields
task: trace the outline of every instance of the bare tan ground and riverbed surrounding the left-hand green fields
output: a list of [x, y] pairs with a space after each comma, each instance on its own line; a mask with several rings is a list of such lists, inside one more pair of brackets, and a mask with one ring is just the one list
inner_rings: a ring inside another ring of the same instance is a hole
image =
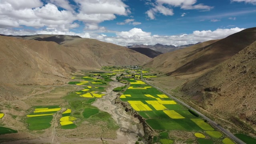
[[[63, 130], [59, 123], [60, 112], [63, 112], [65, 108], [69, 108], [69, 105], [72, 104], [65, 97], [81, 90], [82, 87], [70, 84], [61, 86], [29, 86], [31, 88], [30, 94], [27, 94], [20, 100], [2, 101], [0, 103], [1, 112], [5, 113], [4, 117], [0, 119], [0, 124], [18, 130], [18, 133], [0, 135], [0, 143], [134, 144], [138, 140], [138, 135], [143, 136], [143, 127], [138, 119], [126, 113], [122, 105], [114, 104], [116, 97], [118, 97], [118, 92], [113, 92], [112, 90], [124, 85], [117, 82], [115, 78], [115, 76], [112, 77], [114, 81], [109, 82], [109, 85], [105, 87], [105, 92], [102, 92], [105, 96], [96, 99], [91, 104], [92, 107], [96, 107], [111, 115], [111, 119], [117, 125], [114, 128], [106, 128], [104, 120], [98, 120], [95, 123], [90, 120], [82, 120], [78, 128]], [[6, 106], [7, 103], [10, 104], [9, 107]], [[62, 107], [62, 110], [53, 115], [51, 127], [44, 130], [27, 129], [26, 114], [31, 111], [30, 107], [45, 105], [58, 105]], [[142, 144], [143, 142], [140, 143]]]

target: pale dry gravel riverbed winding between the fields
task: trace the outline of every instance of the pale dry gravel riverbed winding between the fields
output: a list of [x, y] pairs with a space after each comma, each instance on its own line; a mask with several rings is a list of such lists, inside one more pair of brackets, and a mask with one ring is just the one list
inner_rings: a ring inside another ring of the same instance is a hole
[[117, 139], [108, 141], [120, 144], [134, 144], [138, 140], [138, 136], [144, 135], [142, 124], [137, 118], [126, 113], [124, 107], [114, 104], [118, 92], [113, 92], [112, 90], [118, 86], [124, 86], [124, 84], [117, 82], [115, 77], [112, 79], [114, 82], [109, 82], [110, 87], [103, 93], [106, 95], [97, 99], [92, 106], [108, 112], [120, 127], [117, 130]]

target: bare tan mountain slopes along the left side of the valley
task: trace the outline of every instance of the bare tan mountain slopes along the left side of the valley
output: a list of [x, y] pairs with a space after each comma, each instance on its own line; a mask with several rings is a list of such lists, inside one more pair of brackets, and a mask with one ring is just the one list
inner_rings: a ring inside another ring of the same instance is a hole
[[150, 60], [134, 50], [94, 39], [55, 35], [15, 37], [18, 38], [0, 36], [1, 83], [53, 84], [56, 80], [68, 80], [77, 69], [139, 65]]

